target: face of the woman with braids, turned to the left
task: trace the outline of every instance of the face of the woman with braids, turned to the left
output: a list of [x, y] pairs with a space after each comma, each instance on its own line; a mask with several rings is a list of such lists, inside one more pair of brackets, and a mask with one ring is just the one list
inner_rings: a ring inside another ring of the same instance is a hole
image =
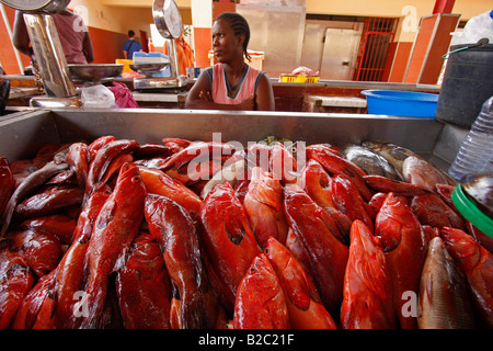
[[228, 21], [218, 20], [213, 26], [213, 50], [221, 64], [228, 64], [236, 59], [243, 60], [242, 34], [234, 35]]

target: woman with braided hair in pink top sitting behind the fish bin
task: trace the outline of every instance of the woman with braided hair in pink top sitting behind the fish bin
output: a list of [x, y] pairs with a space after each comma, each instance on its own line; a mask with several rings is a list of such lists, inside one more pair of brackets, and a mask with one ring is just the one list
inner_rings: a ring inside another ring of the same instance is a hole
[[245, 64], [250, 27], [233, 12], [220, 14], [213, 26], [213, 50], [218, 64], [206, 68], [190, 90], [186, 109], [273, 111], [274, 92], [263, 71]]

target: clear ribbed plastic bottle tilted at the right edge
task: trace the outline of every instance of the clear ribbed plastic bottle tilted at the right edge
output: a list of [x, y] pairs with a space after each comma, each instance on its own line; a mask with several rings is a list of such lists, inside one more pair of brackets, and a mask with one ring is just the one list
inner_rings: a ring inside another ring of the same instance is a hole
[[483, 103], [448, 173], [460, 181], [467, 174], [489, 171], [493, 171], [493, 97]]

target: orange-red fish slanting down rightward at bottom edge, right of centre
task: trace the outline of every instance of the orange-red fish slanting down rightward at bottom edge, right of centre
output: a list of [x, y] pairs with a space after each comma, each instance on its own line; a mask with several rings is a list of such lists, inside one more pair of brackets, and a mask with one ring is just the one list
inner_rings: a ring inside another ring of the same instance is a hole
[[319, 292], [289, 250], [271, 237], [264, 250], [285, 293], [289, 325], [295, 329], [336, 329]]

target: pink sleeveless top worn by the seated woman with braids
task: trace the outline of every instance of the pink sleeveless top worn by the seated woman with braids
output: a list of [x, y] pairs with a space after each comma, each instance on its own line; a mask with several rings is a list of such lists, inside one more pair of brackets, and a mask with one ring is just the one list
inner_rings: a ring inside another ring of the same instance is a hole
[[240, 91], [234, 99], [228, 97], [226, 87], [226, 73], [222, 64], [216, 64], [213, 67], [213, 101], [223, 104], [239, 104], [255, 93], [255, 80], [259, 71], [249, 66], [249, 71], [241, 83]]

